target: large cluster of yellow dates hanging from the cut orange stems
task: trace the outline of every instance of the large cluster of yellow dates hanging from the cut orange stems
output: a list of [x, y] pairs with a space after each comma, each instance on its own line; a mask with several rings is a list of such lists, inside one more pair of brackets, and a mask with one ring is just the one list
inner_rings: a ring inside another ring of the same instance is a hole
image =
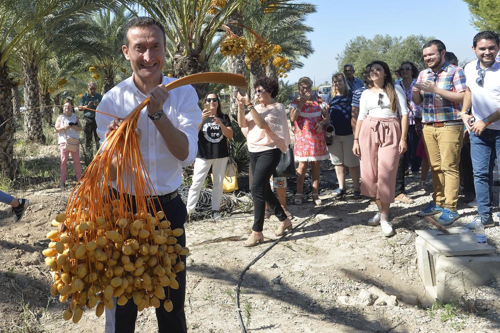
[[[91, 220], [88, 212], [61, 213], [51, 221], [48, 248], [42, 251], [50, 267], [50, 293], [68, 302], [65, 320], [80, 320], [83, 307], [112, 309], [112, 297], [124, 305], [132, 298], [139, 311], [147, 307], [172, 310], [164, 287], [179, 287], [176, 273], [184, 269], [181, 255], [189, 252], [177, 243], [182, 228], [171, 229], [164, 213], [126, 213], [118, 218], [119, 200], [104, 207], [104, 215]], [[77, 217], [79, 216], [79, 218]]]

